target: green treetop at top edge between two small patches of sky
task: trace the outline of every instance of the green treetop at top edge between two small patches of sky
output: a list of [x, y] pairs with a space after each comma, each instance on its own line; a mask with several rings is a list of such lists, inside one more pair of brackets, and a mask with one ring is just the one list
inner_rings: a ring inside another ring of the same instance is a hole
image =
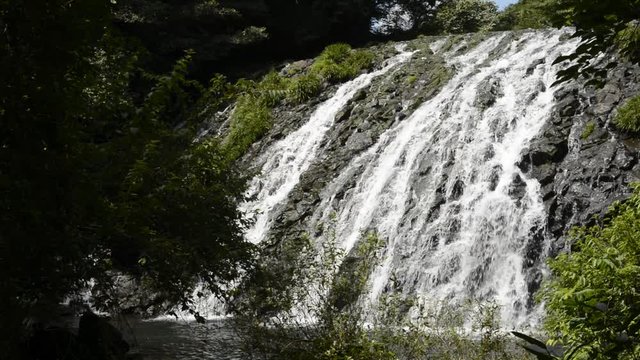
[[439, 31], [460, 34], [490, 30], [497, 19], [498, 8], [493, 1], [451, 0], [436, 14]]

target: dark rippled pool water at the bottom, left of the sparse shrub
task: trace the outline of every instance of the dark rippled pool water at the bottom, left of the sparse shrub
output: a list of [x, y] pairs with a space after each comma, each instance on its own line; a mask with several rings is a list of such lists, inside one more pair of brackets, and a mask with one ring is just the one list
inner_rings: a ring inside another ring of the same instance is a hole
[[228, 320], [205, 324], [129, 320], [132, 352], [144, 360], [241, 359], [239, 340]]

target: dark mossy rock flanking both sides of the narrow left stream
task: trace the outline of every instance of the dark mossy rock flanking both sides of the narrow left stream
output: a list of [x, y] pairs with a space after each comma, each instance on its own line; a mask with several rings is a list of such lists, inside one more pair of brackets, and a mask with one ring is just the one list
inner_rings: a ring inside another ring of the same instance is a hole
[[[322, 144], [322, 155], [302, 175], [298, 186], [290, 193], [282, 205], [280, 215], [271, 229], [271, 241], [278, 242], [301, 236], [308, 231], [306, 220], [320, 202], [320, 192], [328, 182], [362, 151], [369, 149], [380, 135], [392, 125], [409, 116], [420, 104], [438, 93], [452, 75], [442, 57], [429, 49], [431, 39], [418, 39], [408, 43], [408, 47], [418, 52], [414, 55], [420, 61], [412, 61], [385, 76], [376, 78], [367, 88], [360, 90], [337, 114], [335, 124]], [[376, 52], [393, 55], [395, 44], [381, 46]], [[267, 137], [256, 144], [245, 158], [249, 161], [259, 158], [258, 154], [309, 118], [318, 103], [326, 100], [335, 88], [330, 88], [311, 103], [276, 109], [279, 121]], [[257, 165], [257, 166], [256, 166]], [[260, 168], [260, 162], [254, 166]]]

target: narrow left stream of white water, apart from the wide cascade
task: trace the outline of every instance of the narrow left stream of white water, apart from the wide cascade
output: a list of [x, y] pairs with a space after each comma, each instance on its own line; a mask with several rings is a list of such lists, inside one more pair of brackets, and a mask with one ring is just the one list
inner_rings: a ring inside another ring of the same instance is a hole
[[258, 243], [266, 235], [277, 216], [276, 206], [286, 200], [298, 184], [300, 175], [315, 160], [320, 143], [333, 125], [338, 111], [358, 90], [368, 86], [374, 78], [407, 61], [413, 54], [404, 52], [401, 48], [398, 48], [398, 51], [400, 53], [389, 59], [382, 69], [360, 75], [340, 86], [335, 95], [313, 112], [306, 124], [273, 144], [264, 153], [264, 159], [258, 161], [264, 163], [262, 173], [252, 180], [248, 190], [247, 195], [252, 201], [241, 206], [241, 209], [255, 220], [246, 233], [249, 241]]

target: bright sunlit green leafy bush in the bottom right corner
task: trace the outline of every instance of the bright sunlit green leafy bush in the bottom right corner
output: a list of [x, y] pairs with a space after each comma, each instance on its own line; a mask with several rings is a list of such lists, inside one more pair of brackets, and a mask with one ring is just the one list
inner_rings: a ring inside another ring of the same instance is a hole
[[640, 185], [614, 204], [600, 225], [576, 228], [573, 251], [550, 261], [540, 294], [552, 342], [568, 359], [640, 355]]

